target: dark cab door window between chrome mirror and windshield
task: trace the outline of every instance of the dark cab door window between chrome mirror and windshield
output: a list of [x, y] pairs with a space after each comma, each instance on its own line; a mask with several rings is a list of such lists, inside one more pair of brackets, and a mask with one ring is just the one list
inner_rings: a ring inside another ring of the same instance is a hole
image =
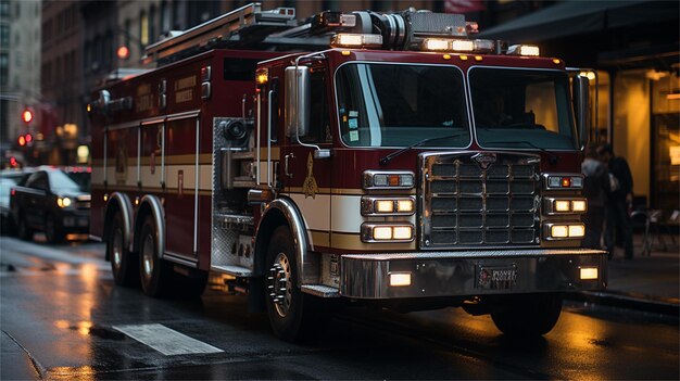
[[326, 72], [316, 69], [312, 72], [310, 79], [310, 132], [301, 140], [305, 143], [329, 143], [332, 141], [332, 136], [330, 132]]

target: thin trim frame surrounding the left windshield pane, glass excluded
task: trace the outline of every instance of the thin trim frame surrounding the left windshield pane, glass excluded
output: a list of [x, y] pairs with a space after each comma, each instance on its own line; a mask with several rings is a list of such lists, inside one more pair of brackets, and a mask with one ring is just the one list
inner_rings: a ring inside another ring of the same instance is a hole
[[[342, 51], [342, 50], [347, 50], [347, 49], [330, 49], [331, 51]], [[385, 52], [385, 51], [382, 51]], [[330, 78], [330, 80], [332, 81], [332, 89], [333, 89], [333, 93], [335, 93], [335, 110], [332, 111], [336, 115], [337, 118], [337, 134], [338, 136], [342, 136], [340, 132], [340, 114], [338, 113], [339, 106], [338, 106], [338, 85], [336, 82], [336, 78], [338, 76], [338, 71], [344, 66], [344, 65], [353, 65], [353, 64], [376, 64], [376, 65], [410, 65], [410, 66], [444, 66], [444, 67], [453, 67], [456, 68], [458, 72], [461, 72], [461, 76], [462, 76], [462, 81], [463, 81], [463, 96], [465, 97], [465, 111], [467, 112], [467, 129], [469, 132], [469, 142], [467, 143], [467, 145], [465, 147], [450, 147], [450, 148], [445, 148], [445, 149], [452, 149], [452, 150], [467, 150], [473, 145], [473, 141], [475, 140], [474, 137], [474, 128], [473, 128], [473, 124], [471, 124], [471, 117], [473, 115], [470, 114], [470, 99], [469, 99], [469, 94], [468, 91], [466, 91], [466, 76], [465, 73], [463, 72], [463, 69], [456, 65], [452, 65], [452, 64], [424, 64], [424, 63], [416, 63], [416, 62], [380, 62], [380, 61], [347, 61], [343, 62], [342, 64], [340, 64], [338, 67], [336, 67], [336, 71], [332, 74], [332, 77]], [[355, 149], [385, 149], [385, 150], [394, 150], [394, 149], [401, 149], [404, 148], [406, 145], [395, 145], [395, 147], [382, 147], [382, 145], [362, 145], [362, 147], [350, 147], [344, 143], [344, 141], [342, 139], [338, 139], [340, 141], [340, 144], [342, 144], [342, 148], [349, 148], [352, 150]], [[443, 147], [427, 147], [427, 145], [418, 145], [418, 149], [442, 149]]]

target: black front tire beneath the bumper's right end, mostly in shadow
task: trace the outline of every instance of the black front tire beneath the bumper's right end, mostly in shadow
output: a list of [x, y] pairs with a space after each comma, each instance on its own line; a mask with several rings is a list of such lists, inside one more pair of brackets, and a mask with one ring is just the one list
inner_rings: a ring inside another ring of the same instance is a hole
[[540, 336], [555, 327], [561, 312], [562, 294], [527, 294], [511, 296], [491, 318], [508, 336]]

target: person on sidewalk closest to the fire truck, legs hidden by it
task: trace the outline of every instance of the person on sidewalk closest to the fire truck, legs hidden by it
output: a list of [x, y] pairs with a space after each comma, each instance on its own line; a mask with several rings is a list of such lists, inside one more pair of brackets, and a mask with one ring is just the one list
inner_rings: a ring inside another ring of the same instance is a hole
[[583, 195], [588, 199], [588, 211], [584, 215], [585, 238], [583, 246], [602, 249], [602, 229], [604, 227], [607, 193], [609, 193], [609, 170], [600, 160], [594, 145], [585, 153], [581, 163], [581, 173], [584, 176]]

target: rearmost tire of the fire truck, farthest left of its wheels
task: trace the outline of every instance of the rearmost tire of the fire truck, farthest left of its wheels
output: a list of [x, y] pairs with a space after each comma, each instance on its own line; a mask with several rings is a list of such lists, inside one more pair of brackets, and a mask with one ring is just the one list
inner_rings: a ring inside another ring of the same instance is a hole
[[106, 257], [111, 261], [111, 272], [117, 285], [139, 284], [139, 259], [125, 245], [123, 216], [116, 213], [106, 238]]

